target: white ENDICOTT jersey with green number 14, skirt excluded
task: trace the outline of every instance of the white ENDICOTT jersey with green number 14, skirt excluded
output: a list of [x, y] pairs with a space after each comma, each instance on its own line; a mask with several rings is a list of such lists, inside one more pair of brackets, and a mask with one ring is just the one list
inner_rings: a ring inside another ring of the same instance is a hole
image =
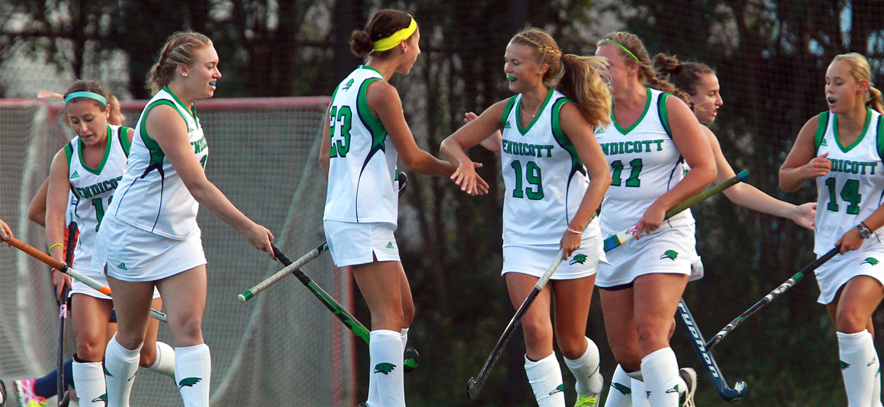
[[[853, 144], [842, 146], [838, 139], [838, 116], [819, 113], [814, 145], [819, 157], [828, 153], [830, 172], [817, 177], [816, 238], [813, 252], [823, 255], [848, 230], [872, 215], [884, 194], [884, 121], [877, 111], [867, 109], [863, 133]], [[882, 232], [881, 229], [878, 232]]]

